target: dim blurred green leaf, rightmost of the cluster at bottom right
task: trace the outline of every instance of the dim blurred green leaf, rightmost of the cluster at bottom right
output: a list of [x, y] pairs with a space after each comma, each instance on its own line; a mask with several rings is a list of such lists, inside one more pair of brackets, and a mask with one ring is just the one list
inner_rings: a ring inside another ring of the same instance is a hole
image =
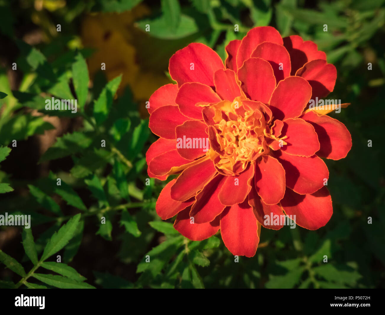
[[344, 268], [345, 270], [338, 270], [335, 266], [331, 265], [331, 263], [324, 263], [312, 269], [317, 275], [325, 278], [329, 282], [354, 286], [362, 276], [352, 268], [346, 268], [345, 266]]

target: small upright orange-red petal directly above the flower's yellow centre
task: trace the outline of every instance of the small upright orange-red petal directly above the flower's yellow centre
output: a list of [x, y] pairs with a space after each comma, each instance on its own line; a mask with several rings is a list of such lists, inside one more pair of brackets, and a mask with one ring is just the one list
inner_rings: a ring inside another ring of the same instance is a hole
[[233, 101], [241, 96], [241, 88], [238, 85], [236, 74], [230, 69], [219, 69], [214, 74], [215, 91], [223, 99]]

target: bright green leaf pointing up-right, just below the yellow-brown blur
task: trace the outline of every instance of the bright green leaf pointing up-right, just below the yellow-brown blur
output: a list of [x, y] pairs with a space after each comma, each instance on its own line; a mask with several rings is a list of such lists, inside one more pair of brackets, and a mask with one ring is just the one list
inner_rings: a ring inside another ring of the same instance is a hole
[[122, 80], [122, 75], [108, 82], [94, 104], [94, 117], [97, 125], [101, 125], [108, 117], [112, 101]]

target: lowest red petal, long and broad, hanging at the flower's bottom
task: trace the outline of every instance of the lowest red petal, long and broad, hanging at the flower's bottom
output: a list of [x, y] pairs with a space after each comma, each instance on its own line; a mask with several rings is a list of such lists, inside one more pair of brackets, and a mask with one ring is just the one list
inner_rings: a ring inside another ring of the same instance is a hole
[[257, 219], [247, 200], [227, 207], [221, 213], [221, 236], [233, 255], [255, 255], [259, 243]]

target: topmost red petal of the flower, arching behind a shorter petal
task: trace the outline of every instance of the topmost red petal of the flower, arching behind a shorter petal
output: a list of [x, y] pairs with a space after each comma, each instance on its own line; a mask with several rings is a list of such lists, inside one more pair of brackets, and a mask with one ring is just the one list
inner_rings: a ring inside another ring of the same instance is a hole
[[271, 26], [254, 27], [243, 37], [237, 54], [237, 68], [242, 67], [243, 62], [250, 58], [254, 49], [263, 42], [283, 45], [280, 33]]

